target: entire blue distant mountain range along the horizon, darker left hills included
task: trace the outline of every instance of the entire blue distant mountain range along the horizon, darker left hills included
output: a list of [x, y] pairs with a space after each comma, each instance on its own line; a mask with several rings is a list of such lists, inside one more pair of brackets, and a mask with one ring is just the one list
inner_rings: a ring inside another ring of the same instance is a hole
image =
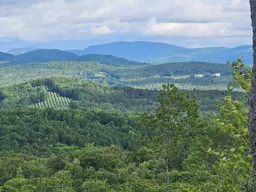
[[[13, 53], [13, 55], [3, 55], [2, 53], [0, 54], [0, 61], [6, 60], [6, 58], [10, 58], [8, 60], [13, 59], [15, 61], [30, 62], [51, 60], [84, 60], [93, 62], [98, 61], [106, 65], [118, 66], [121, 65], [120, 63], [122, 63], [122, 65], [143, 65], [143, 62], [165, 63], [205, 61], [226, 63], [227, 61], [235, 61], [238, 57], [244, 57], [244, 62], [247, 65], [252, 65], [253, 62], [253, 50], [251, 45], [243, 45], [234, 48], [203, 47], [189, 49], [166, 43], [115, 42], [89, 46], [84, 50], [60, 51], [41, 50], [37, 47], [25, 47], [10, 50], [8, 53]], [[81, 56], [83, 57], [81, 58]]]

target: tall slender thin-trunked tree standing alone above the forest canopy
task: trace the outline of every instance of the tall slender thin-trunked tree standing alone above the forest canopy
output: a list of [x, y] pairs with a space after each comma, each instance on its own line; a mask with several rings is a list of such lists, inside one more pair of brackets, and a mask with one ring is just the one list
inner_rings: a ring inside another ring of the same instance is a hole
[[[158, 97], [160, 107], [154, 114], [145, 113], [141, 116], [143, 125], [153, 130], [154, 136], [150, 139], [157, 158], [164, 161], [166, 191], [170, 191], [169, 169], [174, 161], [175, 148], [182, 138], [188, 138], [191, 130], [197, 124], [199, 105], [196, 97], [178, 90], [172, 84], [163, 85], [163, 91]], [[186, 148], [184, 154], [186, 155]]]

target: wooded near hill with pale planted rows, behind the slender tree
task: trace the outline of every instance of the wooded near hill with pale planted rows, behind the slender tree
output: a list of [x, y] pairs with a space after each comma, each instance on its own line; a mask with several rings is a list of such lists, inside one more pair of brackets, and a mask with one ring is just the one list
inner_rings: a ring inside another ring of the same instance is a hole
[[[201, 110], [215, 110], [226, 91], [187, 91], [196, 94]], [[0, 88], [0, 109], [54, 108], [118, 111], [153, 111], [157, 106], [156, 90], [141, 90], [84, 81], [78, 78], [39, 78]], [[235, 97], [240, 93], [235, 92]]]

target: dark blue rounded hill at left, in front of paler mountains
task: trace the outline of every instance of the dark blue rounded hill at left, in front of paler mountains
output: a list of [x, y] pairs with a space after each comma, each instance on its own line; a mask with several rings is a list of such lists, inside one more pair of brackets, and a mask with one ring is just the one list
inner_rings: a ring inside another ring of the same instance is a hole
[[61, 50], [35, 50], [15, 56], [14, 61], [24, 62], [46, 62], [46, 61], [73, 61], [78, 55]]

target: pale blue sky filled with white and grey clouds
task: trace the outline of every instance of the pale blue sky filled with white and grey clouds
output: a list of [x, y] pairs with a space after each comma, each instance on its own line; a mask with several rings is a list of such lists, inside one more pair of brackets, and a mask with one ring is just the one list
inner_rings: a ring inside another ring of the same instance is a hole
[[0, 0], [0, 51], [115, 41], [251, 44], [249, 0]]

